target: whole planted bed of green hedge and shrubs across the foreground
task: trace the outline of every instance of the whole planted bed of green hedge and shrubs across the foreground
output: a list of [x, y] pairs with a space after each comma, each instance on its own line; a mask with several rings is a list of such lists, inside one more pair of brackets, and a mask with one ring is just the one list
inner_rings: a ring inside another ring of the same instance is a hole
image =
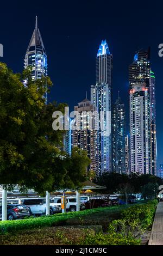
[[[42, 242], [44, 245], [140, 245], [141, 234], [152, 227], [156, 204], [157, 201], [152, 200], [133, 206], [112, 206], [24, 221], [4, 221], [0, 223], [0, 243], [23, 245], [28, 241], [28, 245], [41, 245]], [[97, 214], [102, 215], [102, 212], [109, 216], [117, 211], [118, 220], [114, 218], [108, 222], [105, 231], [101, 228], [95, 230], [91, 225], [85, 227], [84, 216], [95, 215], [97, 218]], [[70, 223], [66, 226], [67, 221], [74, 217], [80, 218], [80, 228]], [[54, 227], [56, 225], [62, 227]], [[78, 236], [75, 235], [77, 233]], [[23, 237], [26, 239], [23, 240]]]

